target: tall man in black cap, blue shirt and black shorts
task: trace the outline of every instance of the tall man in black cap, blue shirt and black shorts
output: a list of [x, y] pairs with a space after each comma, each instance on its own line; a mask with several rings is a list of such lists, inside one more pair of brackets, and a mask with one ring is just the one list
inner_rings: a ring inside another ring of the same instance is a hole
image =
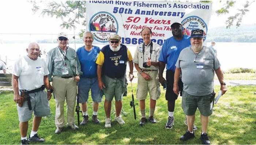
[[[165, 125], [166, 129], [172, 129], [174, 124], [174, 107], [175, 101], [177, 99], [177, 95], [173, 92], [173, 82], [174, 82], [174, 72], [175, 72], [175, 64], [180, 55], [181, 50], [190, 46], [189, 36], [182, 34], [182, 24], [175, 22], [171, 25], [172, 34], [171, 38], [166, 39], [165, 43], [163, 43], [161, 54], [159, 57], [159, 82], [163, 84], [163, 82], [167, 81], [167, 89], [165, 93], [165, 99], [168, 101], [168, 121]], [[163, 70], [166, 66], [166, 80], [163, 78]], [[183, 83], [181, 79], [178, 82], [180, 91], [182, 92]], [[182, 96], [182, 94], [180, 94]]]

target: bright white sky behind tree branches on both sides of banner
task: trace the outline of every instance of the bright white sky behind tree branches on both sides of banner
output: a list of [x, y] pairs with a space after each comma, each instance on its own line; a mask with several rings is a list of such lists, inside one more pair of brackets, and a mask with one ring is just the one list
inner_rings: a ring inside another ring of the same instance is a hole
[[[234, 13], [234, 10], [241, 8], [245, 1], [237, 1], [236, 7], [230, 9], [230, 13]], [[209, 29], [214, 27], [225, 26], [225, 21], [229, 15], [217, 16], [214, 14], [218, 8], [221, 7], [219, 1], [214, 1], [212, 5], [212, 16], [209, 24]], [[256, 2], [250, 6], [250, 11], [244, 17], [242, 24], [254, 24], [256, 23], [255, 13], [256, 13]], [[33, 15], [31, 11], [31, 4], [27, 1], [2, 1], [0, 5], [0, 35], [3, 33], [14, 33], [14, 34], [57, 34], [63, 31], [60, 28], [61, 19], [56, 19], [55, 17], [40, 16], [39, 12]], [[78, 26], [76, 31], [80, 29], [85, 29], [81, 25]], [[64, 30], [68, 34], [74, 34], [73, 30]], [[55, 37], [55, 36], [54, 36]]]

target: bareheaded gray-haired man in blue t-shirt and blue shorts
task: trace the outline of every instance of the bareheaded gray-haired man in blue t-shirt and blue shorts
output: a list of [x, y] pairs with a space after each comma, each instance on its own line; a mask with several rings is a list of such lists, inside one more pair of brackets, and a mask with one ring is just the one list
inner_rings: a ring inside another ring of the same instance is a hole
[[97, 64], [96, 59], [99, 54], [99, 47], [93, 46], [93, 34], [87, 31], [83, 34], [84, 46], [78, 48], [76, 54], [78, 55], [79, 62], [81, 64], [81, 71], [83, 75], [80, 77], [78, 83], [78, 97], [79, 103], [81, 103], [83, 112], [83, 121], [80, 125], [85, 125], [88, 122], [89, 115], [87, 113], [87, 100], [89, 97], [89, 91], [91, 90], [91, 97], [93, 98], [93, 123], [99, 124], [97, 118], [99, 102], [102, 101], [102, 95], [98, 87], [97, 78]]

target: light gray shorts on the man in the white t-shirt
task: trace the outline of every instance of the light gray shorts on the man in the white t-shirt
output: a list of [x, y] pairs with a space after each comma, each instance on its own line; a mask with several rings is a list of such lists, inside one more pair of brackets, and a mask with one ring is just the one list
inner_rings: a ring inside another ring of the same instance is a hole
[[39, 91], [37, 93], [29, 94], [31, 100], [32, 109], [29, 110], [27, 101], [23, 102], [23, 106], [19, 107], [17, 104], [17, 110], [20, 122], [27, 122], [31, 119], [32, 113], [37, 117], [44, 117], [50, 115], [50, 105], [47, 99], [47, 93], [45, 91]]

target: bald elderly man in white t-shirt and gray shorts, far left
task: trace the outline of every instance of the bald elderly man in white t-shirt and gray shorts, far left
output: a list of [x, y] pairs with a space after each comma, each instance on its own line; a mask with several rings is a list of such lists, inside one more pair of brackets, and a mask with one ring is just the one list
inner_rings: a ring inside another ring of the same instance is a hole
[[[49, 71], [43, 59], [39, 58], [39, 45], [30, 43], [26, 49], [27, 55], [15, 61], [12, 68], [12, 88], [14, 102], [17, 103], [21, 144], [29, 144], [27, 140], [28, 121], [34, 111], [33, 126], [29, 141], [44, 142], [38, 137], [37, 130], [41, 119], [50, 115], [49, 100], [52, 86], [48, 81]], [[45, 92], [47, 88], [47, 96]], [[22, 103], [23, 102], [23, 103]]]

